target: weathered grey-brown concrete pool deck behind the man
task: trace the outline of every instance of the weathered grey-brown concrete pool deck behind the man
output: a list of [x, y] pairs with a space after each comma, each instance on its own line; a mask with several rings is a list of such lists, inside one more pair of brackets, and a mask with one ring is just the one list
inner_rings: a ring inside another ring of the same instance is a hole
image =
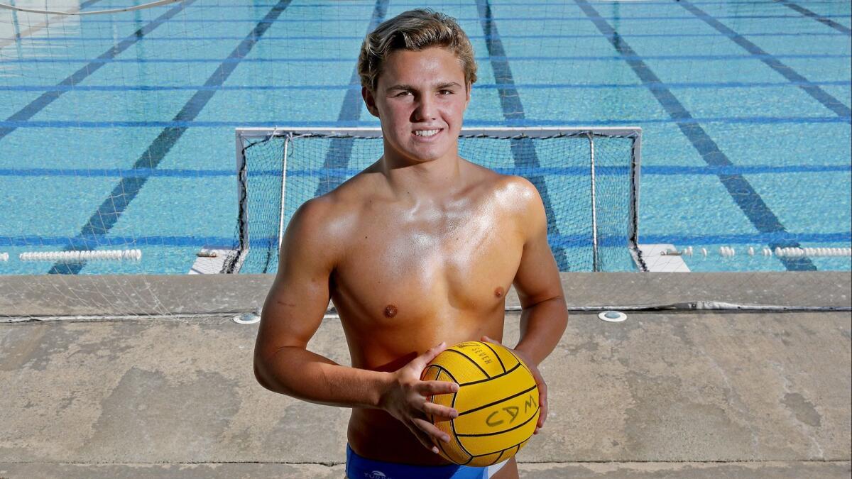
[[[232, 320], [271, 280], [0, 277], [0, 320], [43, 319], [0, 324], [0, 477], [343, 477], [348, 411], [264, 390], [251, 367], [257, 325]], [[849, 273], [563, 281], [574, 307], [852, 303]], [[506, 315], [506, 343], [518, 317]], [[542, 365], [550, 415], [518, 456], [521, 476], [849, 477], [850, 320], [656, 310], [607, 323], [574, 312]], [[310, 348], [348, 363], [339, 320], [323, 320]]]

